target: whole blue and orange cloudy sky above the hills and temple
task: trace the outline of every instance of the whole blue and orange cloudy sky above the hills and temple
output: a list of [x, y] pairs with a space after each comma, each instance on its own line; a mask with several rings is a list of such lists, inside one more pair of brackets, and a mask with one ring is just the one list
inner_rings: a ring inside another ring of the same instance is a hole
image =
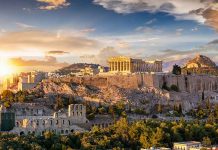
[[1, 0], [0, 59], [22, 69], [125, 55], [218, 62], [217, 0]]

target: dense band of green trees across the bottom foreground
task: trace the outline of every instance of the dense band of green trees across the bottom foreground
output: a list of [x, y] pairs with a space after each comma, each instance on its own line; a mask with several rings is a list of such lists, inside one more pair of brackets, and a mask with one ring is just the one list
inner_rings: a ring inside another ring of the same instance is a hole
[[194, 121], [186, 123], [138, 121], [129, 124], [125, 118], [105, 129], [93, 127], [86, 133], [68, 136], [46, 132], [44, 136], [0, 135], [0, 149], [138, 149], [172, 147], [173, 142], [196, 140], [205, 146], [217, 144], [218, 124]]

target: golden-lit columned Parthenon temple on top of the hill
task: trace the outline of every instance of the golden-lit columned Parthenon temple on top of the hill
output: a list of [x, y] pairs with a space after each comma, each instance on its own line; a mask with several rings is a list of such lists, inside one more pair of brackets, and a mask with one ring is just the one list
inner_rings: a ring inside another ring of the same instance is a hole
[[110, 57], [108, 64], [111, 73], [162, 72], [162, 61], [143, 61], [125, 56]]

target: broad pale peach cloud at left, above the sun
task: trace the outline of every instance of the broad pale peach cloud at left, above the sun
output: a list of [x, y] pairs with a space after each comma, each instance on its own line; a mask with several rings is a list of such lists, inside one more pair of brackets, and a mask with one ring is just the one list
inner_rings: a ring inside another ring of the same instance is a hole
[[61, 35], [54, 32], [30, 29], [17, 32], [5, 32], [0, 35], [0, 54], [34, 56], [44, 55], [48, 51], [61, 50], [74, 52], [74, 55], [94, 51], [99, 42], [80, 35]]

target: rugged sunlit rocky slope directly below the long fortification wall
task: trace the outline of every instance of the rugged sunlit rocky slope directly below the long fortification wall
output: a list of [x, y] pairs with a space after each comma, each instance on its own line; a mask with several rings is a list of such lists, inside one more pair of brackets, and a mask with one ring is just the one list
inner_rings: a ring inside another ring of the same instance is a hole
[[[140, 89], [125, 89], [117, 86], [106, 88], [78, 84], [74, 82], [43, 82], [34, 90], [36, 93], [45, 95], [73, 96], [76, 100], [89, 101], [98, 105], [99, 102], [110, 105], [123, 101], [131, 105], [133, 109], [140, 109], [146, 112], [155, 111], [156, 106], [161, 104], [166, 108], [173, 108], [175, 104], [184, 105], [190, 109], [197, 104], [198, 95], [188, 93], [168, 92], [161, 89], [143, 87]], [[174, 101], [172, 101], [172, 99]], [[127, 106], [128, 106], [127, 105]]]

